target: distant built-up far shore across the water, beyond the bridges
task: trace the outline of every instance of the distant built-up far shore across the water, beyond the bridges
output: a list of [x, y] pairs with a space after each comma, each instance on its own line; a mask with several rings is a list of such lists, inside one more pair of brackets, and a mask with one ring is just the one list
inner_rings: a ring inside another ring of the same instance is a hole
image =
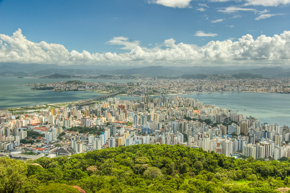
[[[224, 75], [226, 77], [226, 75]], [[271, 79], [162, 79], [146, 77], [137, 83], [94, 83], [79, 80], [56, 83], [31, 83], [33, 90], [72, 91], [87, 90], [100, 93], [116, 92], [128, 96], [189, 94], [198, 92], [269, 92], [290, 94], [290, 78]]]

